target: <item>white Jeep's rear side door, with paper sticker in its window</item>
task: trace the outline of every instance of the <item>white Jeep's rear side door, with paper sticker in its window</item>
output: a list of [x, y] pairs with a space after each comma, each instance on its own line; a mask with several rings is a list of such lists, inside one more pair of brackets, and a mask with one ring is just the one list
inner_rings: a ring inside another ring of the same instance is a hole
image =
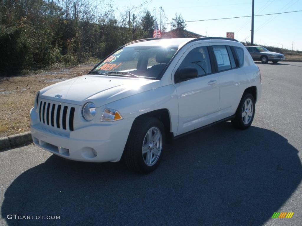
[[[220, 119], [234, 115], [245, 89], [246, 75], [243, 65], [243, 49], [229, 45], [211, 46], [215, 55], [220, 89]], [[244, 47], [243, 47], [244, 48]]]

